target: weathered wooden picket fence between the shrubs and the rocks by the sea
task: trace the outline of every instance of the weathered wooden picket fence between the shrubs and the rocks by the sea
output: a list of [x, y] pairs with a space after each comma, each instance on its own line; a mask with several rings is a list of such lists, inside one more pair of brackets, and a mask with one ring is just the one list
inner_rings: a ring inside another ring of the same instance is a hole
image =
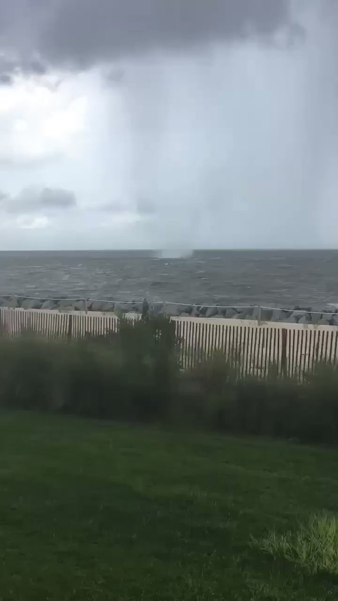
[[[337, 362], [338, 328], [283, 323], [241, 322], [230, 319], [174, 317], [184, 369], [194, 367], [219, 350], [238, 369], [265, 377], [272, 366], [280, 373], [303, 378], [316, 363]], [[114, 314], [85, 314], [80, 311], [22, 310], [0, 308], [0, 331], [7, 337], [35, 332], [49, 338], [103, 335], [118, 330]]]

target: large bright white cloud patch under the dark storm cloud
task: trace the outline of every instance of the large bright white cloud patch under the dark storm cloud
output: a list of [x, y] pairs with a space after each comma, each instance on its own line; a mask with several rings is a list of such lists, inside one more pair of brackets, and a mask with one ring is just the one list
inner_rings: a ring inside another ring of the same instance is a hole
[[49, 88], [44, 78], [17, 78], [0, 87], [0, 163], [30, 164], [73, 156], [84, 133], [85, 94], [74, 87]]

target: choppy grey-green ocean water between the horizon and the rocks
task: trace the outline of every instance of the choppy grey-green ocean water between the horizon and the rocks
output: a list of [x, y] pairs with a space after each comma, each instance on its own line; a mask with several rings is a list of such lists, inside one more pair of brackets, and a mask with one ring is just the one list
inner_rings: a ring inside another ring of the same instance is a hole
[[338, 302], [338, 251], [0, 252], [0, 295], [221, 305]]

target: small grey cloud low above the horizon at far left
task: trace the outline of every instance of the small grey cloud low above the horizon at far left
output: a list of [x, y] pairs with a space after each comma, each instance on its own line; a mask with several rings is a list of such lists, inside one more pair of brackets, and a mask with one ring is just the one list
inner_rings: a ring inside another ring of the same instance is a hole
[[5, 213], [35, 213], [41, 210], [70, 209], [76, 206], [73, 192], [62, 188], [25, 188], [19, 195], [0, 194], [0, 209]]

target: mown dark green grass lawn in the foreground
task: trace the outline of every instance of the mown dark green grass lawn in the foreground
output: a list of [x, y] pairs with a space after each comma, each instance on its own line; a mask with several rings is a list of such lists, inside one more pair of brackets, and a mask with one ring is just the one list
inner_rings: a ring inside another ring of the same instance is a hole
[[334, 600], [250, 546], [338, 510], [338, 452], [0, 414], [0, 600]]

